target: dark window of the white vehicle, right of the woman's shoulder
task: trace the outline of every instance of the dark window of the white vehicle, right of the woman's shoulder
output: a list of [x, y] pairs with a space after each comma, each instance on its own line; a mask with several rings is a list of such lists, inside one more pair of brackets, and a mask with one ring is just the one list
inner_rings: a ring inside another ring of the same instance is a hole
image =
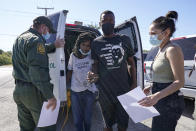
[[184, 60], [193, 60], [196, 52], [196, 37], [173, 40], [173, 43], [179, 45], [184, 54]]

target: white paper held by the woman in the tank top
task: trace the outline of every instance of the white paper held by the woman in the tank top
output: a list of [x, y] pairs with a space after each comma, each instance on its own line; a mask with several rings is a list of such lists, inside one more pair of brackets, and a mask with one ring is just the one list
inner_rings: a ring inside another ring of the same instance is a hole
[[136, 87], [128, 93], [118, 96], [121, 105], [135, 123], [160, 115], [154, 107], [139, 105], [138, 101], [145, 97], [146, 95], [140, 87]]

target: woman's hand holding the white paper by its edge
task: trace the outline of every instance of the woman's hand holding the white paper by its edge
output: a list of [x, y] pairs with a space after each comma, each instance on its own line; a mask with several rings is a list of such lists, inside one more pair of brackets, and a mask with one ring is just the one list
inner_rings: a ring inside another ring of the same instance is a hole
[[138, 103], [142, 106], [150, 107], [155, 105], [159, 101], [158, 93], [149, 95], [144, 99], [138, 101]]

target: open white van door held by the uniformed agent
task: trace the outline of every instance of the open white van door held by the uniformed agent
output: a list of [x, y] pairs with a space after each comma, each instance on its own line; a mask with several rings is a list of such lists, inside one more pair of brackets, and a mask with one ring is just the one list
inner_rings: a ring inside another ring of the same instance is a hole
[[[61, 11], [52, 15], [49, 15], [49, 19], [52, 21], [56, 34], [51, 34], [51, 37], [47, 40], [47, 44], [54, 43], [56, 38], [64, 39], [65, 33], [65, 21], [68, 11]], [[54, 85], [53, 93], [57, 100], [66, 101], [66, 75], [65, 75], [65, 53], [64, 48], [57, 48], [54, 53], [49, 53], [49, 70], [51, 83]]]

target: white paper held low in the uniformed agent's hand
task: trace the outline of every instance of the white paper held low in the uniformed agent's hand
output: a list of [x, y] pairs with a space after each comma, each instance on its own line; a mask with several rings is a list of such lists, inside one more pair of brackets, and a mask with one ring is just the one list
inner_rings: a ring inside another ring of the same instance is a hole
[[59, 108], [60, 108], [60, 101], [57, 101], [56, 108], [52, 111], [51, 108], [47, 109], [48, 102], [44, 102], [41, 110], [41, 114], [39, 117], [39, 122], [37, 127], [46, 127], [56, 124], [57, 117], [59, 114]]

